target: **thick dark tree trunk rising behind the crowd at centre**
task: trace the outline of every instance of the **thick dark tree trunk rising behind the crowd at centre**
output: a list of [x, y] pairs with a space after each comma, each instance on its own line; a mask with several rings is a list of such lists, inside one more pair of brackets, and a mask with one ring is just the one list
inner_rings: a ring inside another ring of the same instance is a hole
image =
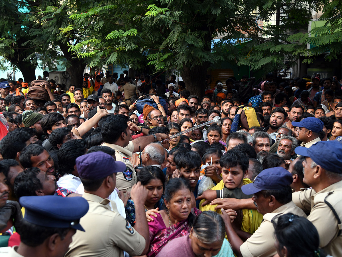
[[193, 67], [185, 66], [181, 71], [186, 89], [189, 90], [192, 95], [196, 95], [199, 98], [204, 95], [206, 75], [209, 66], [209, 63], [203, 63], [202, 65], [196, 65]]

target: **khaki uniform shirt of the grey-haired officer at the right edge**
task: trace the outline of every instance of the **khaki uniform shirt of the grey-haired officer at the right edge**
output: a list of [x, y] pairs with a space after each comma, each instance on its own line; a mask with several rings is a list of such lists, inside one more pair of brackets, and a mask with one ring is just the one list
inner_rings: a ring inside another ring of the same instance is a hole
[[337, 236], [342, 225], [338, 224], [332, 210], [325, 203], [327, 201], [335, 209], [342, 220], [342, 181], [332, 184], [316, 193], [312, 188], [292, 194], [294, 203], [310, 212], [307, 219], [316, 227], [319, 234], [319, 247], [332, 256], [341, 256], [342, 234]]

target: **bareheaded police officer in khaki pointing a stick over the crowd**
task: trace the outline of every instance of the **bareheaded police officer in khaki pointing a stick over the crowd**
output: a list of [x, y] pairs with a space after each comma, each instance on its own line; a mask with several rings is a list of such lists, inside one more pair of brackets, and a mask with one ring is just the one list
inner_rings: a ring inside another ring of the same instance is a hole
[[116, 160], [126, 164], [126, 171], [118, 173], [116, 178], [116, 187], [119, 190], [126, 191], [130, 191], [137, 181], [133, 164], [129, 160], [133, 152], [139, 151], [139, 146], [141, 146], [141, 149], [144, 149], [145, 146], [152, 142], [169, 137], [167, 134], [157, 133], [132, 140], [131, 126], [128, 125], [128, 122], [129, 119], [127, 116], [115, 114], [106, 117], [101, 126], [101, 134], [105, 142], [102, 145], [114, 149]]

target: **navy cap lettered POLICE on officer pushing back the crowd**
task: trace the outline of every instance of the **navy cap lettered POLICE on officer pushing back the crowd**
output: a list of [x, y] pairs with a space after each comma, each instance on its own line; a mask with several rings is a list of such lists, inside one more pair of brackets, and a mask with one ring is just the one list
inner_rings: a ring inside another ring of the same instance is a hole
[[265, 169], [257, 175], [253, 183], [243, 185], [242, 192], [251, 195], [261, 190], [281, 190], [291, 185], [293, 178], [290, 172], [282, 167]]

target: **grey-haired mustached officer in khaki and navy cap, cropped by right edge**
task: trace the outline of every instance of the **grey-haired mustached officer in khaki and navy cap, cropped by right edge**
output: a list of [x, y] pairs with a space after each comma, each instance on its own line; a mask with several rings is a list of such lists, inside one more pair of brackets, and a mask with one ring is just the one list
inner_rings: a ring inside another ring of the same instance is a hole
[[310, 148], [297, 147], [296, 154], [305, 156], [303, 182], [311, 188], [292, 194], [298, 207], [310, 215], [320, 244], [328, 254], [342, 253], [342, 144], [321, 141]]

